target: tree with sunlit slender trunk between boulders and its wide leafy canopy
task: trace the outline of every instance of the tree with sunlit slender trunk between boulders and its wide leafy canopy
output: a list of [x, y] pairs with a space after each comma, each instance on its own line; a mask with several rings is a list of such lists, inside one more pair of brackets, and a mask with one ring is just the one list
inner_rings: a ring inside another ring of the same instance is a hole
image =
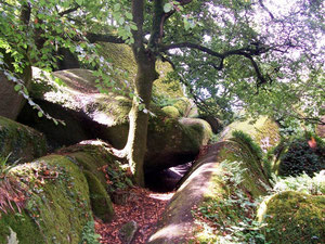
[[[272, 114], [282, 94], [287, 103], [297, 100], [298, 93], [300, 100], [314, 95], [320, 103], [324, 99], [317, 88], [324, 85], [320, 79], [324, 43], [317, 41], [324, 34], [321, 0], [297, 0], [280, 14], [263, 0], [0, 2], [0, 48], [6, 49], [15, 63], [26, 65], [28, 61], [18, 54], [27, 53], [32, 65], [55, 67], [60, 59], [53, 55], [55, 47], [64, 47], [100, 67], [96, 74], [105, 77], [109, 65], [101, 62], [91, 43], [131, 46], [138, 72], [128, 142], [120, 155], [128, 157], [140, 185], [144, 185], [143, 160], [152, 88], [158, 78], [157, 60], [172, 64], [171, 77], [188, 87], [200, 107], [214, 103], [218, 113], [239, 105]], [[5, 66], [2, 70], [8, 72]], [[265, 101], [272, 98], [269, 94], [273, 94], [273, 88], [274, 99]], [[311, 119], [320, 114], [318, 108], [312, 113], [302, 106], [295, 108]]]

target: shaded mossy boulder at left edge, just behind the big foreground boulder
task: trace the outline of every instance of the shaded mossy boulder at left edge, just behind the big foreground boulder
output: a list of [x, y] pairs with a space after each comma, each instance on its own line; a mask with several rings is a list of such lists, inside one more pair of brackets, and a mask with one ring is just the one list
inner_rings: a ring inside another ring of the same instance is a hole
[[32, 160], [47, 153], [47, 141], [41, 132], [0, 116], [0, 156], [11, 156], [8, 163]]

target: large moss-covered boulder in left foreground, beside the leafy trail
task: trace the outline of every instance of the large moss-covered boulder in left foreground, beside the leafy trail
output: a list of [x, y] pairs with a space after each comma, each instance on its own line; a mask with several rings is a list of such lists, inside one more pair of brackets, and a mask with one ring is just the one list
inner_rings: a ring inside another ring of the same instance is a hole
[[[121, 182], [112, 178], [107, 188], [105, 169], [113, 172], [119, 166], [104, 143], [92, 141], [12, 168], [10, 180], [0, 181], [6, 197], [0, 197], [0, 243], [81, 243], [92, 214], [104, 221], [114, 216], [107, 190], [114, 192]], [[10, 198], [13, 193], [20, 197]], [[3, 204], [9, 200], [12, 207]]]

